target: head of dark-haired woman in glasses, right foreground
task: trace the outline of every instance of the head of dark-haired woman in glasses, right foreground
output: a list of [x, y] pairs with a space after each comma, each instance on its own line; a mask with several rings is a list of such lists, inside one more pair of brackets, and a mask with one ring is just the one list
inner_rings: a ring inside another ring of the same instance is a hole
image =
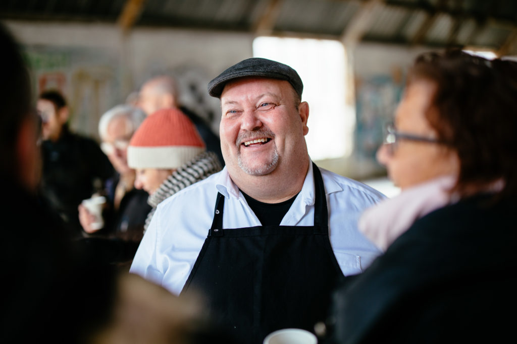
[[517, 63], [461, 51], [418, 57], [377, 157], [405, 189], [437, 176], [460, 196], [517, 191]]

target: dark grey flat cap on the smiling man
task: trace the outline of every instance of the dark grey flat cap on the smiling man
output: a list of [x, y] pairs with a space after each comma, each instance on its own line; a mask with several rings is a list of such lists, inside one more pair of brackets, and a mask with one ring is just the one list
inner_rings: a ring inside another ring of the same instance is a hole
[[252, 57], [240, 61], [219, 74], [219, 76], [208, 83], [208, 94], [212, 97], [220, 98], [226, 83], [247, 76], [263, 76], [266, 78], [289, 81], [301, 98], [303, 83], [294, 69], [287, 64], [259, 57]]

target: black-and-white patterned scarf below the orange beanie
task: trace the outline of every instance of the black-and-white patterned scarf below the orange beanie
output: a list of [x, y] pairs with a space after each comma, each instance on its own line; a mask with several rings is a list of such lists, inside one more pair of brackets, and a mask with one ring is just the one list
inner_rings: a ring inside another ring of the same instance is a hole
[[160, 202], [172, 196], [179, 190], [202, 181], [210, 174], [219, 172], [220, 170], [221, 165], [217, 155], [213, 152], [204, 152], [174, 171], [147, 199], [147, 203], [149, 203], [153, 209], [151, 209], [147, 215], [147, 219], [145, 220], [144, 233], [151, 222], [151, 218], [153, 218], [156, 206]]

